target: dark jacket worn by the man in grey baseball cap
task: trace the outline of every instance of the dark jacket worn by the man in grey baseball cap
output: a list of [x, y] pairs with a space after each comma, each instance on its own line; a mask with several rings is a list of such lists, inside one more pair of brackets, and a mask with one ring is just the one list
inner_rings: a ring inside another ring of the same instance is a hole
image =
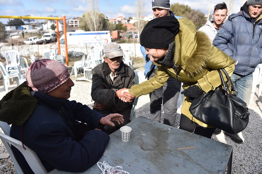
[[121, 61], [116, 73], [118, 77], [113, 84], [109, 76], [111, 72], [106, 62], [92, 69], [92, 100], [110, 106], [110, 109], [106, 109], [110, 113], [117, 113], [124, 109], [131, 110], [133, 102], [123, 102], [118, 97], [115, 97], [115, 93], [117, 89], [130, 88], [134, 85], [135, 73], [133, 69]]

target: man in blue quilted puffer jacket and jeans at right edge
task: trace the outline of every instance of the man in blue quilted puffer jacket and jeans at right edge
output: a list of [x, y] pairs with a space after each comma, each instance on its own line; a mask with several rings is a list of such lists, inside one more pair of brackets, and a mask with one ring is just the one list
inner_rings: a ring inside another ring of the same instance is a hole
[[[249, 104], [252, 93], [253, 72], [262, 63], [262, 0], [248, 0], [237, 14], [231, 14], [217, 32], [213, 45], [235, 60], [231, 76], [237, 97]], [[243, 140], [237, 134], [225, 135], [237, 142]]]

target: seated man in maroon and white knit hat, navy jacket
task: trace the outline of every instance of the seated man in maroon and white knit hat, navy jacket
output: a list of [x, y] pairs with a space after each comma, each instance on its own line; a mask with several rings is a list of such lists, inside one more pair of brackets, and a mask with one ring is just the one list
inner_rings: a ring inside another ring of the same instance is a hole
[[[96, 164], [108, 144], [103, 125], [124, 121], [118, 113], [104, 116], [67, 100], [74, 86], [69, 77], [60, 62], [36, 58], [27, 81], [0, 101], [0, 120], [12, 124], [10, 136], [36, 152], [47, 172], [55, 168], [84, 172]], [[12, 150], [23, 172], [33, 173], [23, 155], [13, 146]]]

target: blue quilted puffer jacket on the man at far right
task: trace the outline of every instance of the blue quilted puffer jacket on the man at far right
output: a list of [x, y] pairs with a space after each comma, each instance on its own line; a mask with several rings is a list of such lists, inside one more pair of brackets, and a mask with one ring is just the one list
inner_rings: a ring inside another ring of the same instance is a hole
[[213, 45], [232, 57], [234, 73], [246, 76], [262, 63], [262, 15], [253, 19], [246, 3], [237, 14], [231, 14], [213, 41]]

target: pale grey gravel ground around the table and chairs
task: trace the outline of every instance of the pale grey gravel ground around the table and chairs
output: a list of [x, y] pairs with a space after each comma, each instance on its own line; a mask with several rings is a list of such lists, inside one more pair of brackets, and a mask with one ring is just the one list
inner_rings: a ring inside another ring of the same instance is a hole
[[[87, 81], [74, 81], [75, 86], [72, 87], [70, 100], [76, 100], [83, 104], [92, 106], [90, 97], [91, 82]], [[15, 84], [10, 85], [14, 89]], [[258, 89], [257, 89], [258, 91]], [[3, 90], [0, 84], [0, 98], [2, 98], [6, 92]], [[238, 144], [225, 136], [223, 133], [213, 135], [212, 139], [232, 145], [233, 148], [233, 164], [232, 173], [252, 173], [262, 174], [262, 100], [257, 99], [255, 94], [253, 101], [249, 105], [249, 124], [247, 128], [239, 133], [239, 136], [244, 140], [243, 143]], [[163, 110], [162, 110], [163, 113]], [[138, 99], [136, 106], [136, 117], [150, 118], [149, 114], [149, 96], [141, 96]], [[163, 114], [161, 122], [163, 122]], [[175, 127], [179, 125], [179, 114], [176, 120]], [[15, 173], [13, 162], [6, 154], [6, 149], [0, 141], [0, 174]], [[227, 173], [227, 172], [226, 172]]]

